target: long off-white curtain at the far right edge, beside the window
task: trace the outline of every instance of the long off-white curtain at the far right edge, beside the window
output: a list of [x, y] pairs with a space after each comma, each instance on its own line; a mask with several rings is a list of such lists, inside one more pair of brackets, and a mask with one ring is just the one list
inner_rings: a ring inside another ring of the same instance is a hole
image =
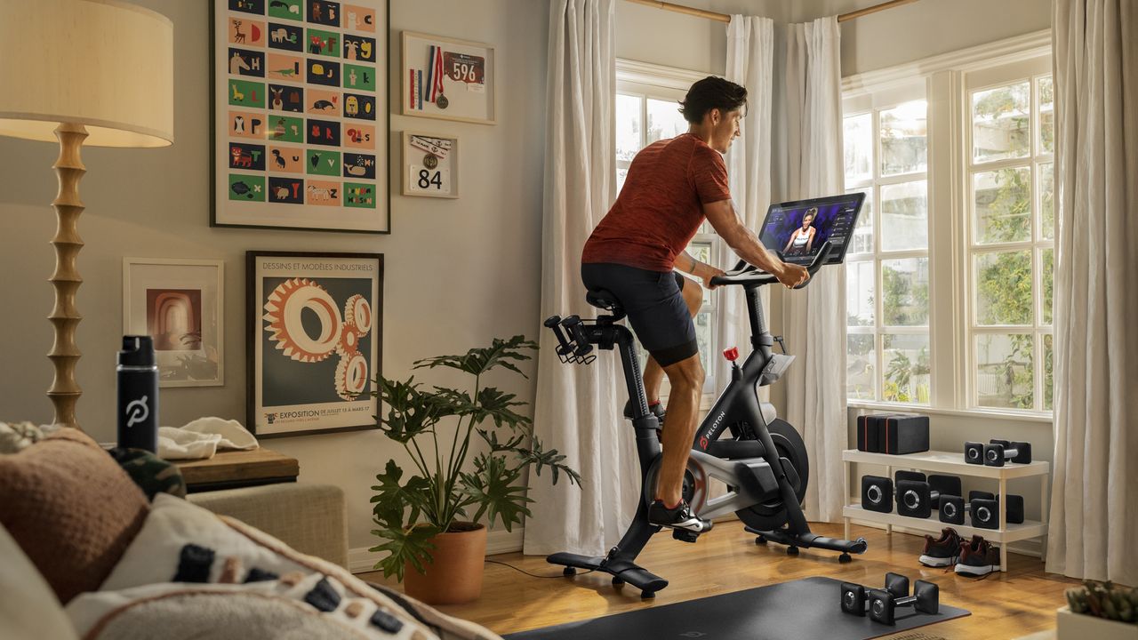
[[1047, 571], [1138, 584], [1138, 5], [1056, 0]]

